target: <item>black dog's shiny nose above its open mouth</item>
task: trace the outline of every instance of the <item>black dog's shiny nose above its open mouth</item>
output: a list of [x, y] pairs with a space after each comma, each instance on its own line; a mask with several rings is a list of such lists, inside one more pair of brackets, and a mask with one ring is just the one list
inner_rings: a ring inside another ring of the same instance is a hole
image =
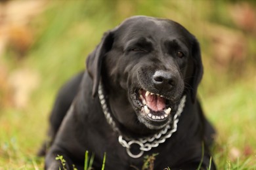
[[158, 90], [171, 90], [177, 83], [176, 79], [173, 74], [167, 71], [156, 71], [153, 75], [154, 86]]

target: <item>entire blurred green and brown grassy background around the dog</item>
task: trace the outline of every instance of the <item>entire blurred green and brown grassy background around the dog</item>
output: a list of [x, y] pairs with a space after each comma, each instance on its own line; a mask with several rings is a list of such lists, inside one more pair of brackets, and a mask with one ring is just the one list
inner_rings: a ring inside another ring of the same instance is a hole
[[175, 20], [198, 38], [213, 159], [256, 169], [256, 3], [213, 0], [1, 1], [0, 169], [43, 169], [35, 153], [58, 88], [85, 68], [104, 31], [133, 15]]

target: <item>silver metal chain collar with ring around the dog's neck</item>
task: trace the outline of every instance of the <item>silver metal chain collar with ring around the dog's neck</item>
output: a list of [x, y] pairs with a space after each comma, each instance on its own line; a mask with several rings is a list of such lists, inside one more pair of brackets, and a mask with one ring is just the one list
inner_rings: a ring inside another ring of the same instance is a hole
[[[131, 156], [131, 158], [140, 158], [140, 156], [143, 155], [144, 151], [149, 151], [154, 147], [157, 147], [160, 143], [164, 143], [166, 139], [170, 138], [175, 131], [177, 131], [177, 124], [179, 122], [179, 116], [181, 115], [185, 103], [186, 103], [186, 95], [183, 95], [181, 98], [181, 101], [179, 103], [179, 107], [175, 115], [173, 116], [173, 126], [170, 125], [165, 126], [164, 129], [162, 129], [159, 133], [156, 133], [155, 135], [152, 135], [151, 137], [142, 137], [137, 140], [131, 139], [129, 137], [125, 137], [121, 135], [121, 131], [116, 127], [116, 122], [114, 122], [112, 116], [110, 115], [110, 111], [108, 110], [106, 99], [104, 96], [104, 90], [103, 86], [100, 82], [98, 86], [98, 97], [100, 99], [100, 104], [102, 107], [102, 110], [104, 112], [104, 116], [106, 117], [106, 121], [110, 126], [112, 126], [112, 129], [118, 133], [118, 141], [121, 144], [121, 146], [126, 148], [127, 154]], [[131, 145], [137, 144], [139, 145], [140, 152], [139, 154], [133, 154], [131, 152]]]

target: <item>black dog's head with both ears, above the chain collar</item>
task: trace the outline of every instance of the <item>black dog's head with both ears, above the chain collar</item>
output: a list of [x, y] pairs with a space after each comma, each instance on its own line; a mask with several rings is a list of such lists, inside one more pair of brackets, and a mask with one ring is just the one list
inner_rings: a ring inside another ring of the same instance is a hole
[[169, 124], [182, 95], [194, 102], [203, 73], [196, 38], [177, 22], [146, 16], [105, 33], [87, 70], [93, 95], [102, 78], [116, 120], [138, 133]]

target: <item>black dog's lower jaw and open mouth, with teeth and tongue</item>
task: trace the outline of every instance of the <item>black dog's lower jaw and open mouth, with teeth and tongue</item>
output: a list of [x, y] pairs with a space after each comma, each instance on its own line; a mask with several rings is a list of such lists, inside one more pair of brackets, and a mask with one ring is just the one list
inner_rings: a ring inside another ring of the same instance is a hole
[[162, 129], [171, 122], [177, 108], [177, 98], [180, 98], [173, 99], [144, 89], [132, 90], [130, 97], [138, 120], [152, 130]]

